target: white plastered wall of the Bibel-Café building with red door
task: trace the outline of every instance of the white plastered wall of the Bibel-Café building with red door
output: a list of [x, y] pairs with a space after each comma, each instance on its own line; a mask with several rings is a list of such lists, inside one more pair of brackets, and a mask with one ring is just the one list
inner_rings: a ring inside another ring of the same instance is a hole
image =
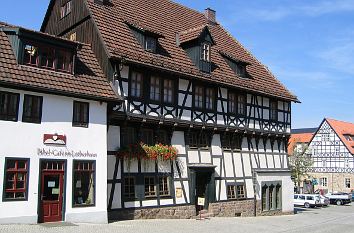
[[[6, 158], [29, 159], [28, 199], [21, 201], [0, 199], [0, 223], [37, 223], [39, 221], [40, 162], [43, 160], [63, 160], [65, 162], [63, 221], [106, 223], [106, 193], [101, 190], [107, 189], [107, 104], [2, 87], [0, 87], [0, 91], [20, 94], [18, 121], [0, 121], [2, 132], [0, 134], [2, 142], [0, 147], [0, 187], [5, 187]], [[21, 121], [24, 94], [43, 97], [41, 124]], [[74, 100], [89, 103], [89, 125], [87, 128], [72, 126]], [[45, 145], [43, 143], [44, 134], [65, 135], [67, 143], [64, 146]], [[43, 153], [43, 150], [47, 154]], [[60, 153], [62, 154], [60, 155]], [[73, 207], [74, 160], [95, 162], [95, 204], [92, 207]], [[0, 189], [1, 197], [4, 197], [4, 190], [5, 188]]]

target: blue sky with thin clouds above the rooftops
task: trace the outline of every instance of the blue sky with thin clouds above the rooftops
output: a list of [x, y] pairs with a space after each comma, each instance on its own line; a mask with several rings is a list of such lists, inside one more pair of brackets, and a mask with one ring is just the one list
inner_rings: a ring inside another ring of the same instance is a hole
[[[216, 10], [217, 20], [299, 97], [293, 128], [316, 127], [324, 117], [354, 122], [354, 0], [175, 1]], [[0, 20], [39, 30], [48, 3], [4, 1]]]

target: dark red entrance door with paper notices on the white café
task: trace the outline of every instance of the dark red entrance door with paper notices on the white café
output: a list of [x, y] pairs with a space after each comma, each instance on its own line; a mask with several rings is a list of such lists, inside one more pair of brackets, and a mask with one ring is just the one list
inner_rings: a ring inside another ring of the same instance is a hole
[[43, 161], [41, 168], [40, 222], [62, 221], [64, 162]]

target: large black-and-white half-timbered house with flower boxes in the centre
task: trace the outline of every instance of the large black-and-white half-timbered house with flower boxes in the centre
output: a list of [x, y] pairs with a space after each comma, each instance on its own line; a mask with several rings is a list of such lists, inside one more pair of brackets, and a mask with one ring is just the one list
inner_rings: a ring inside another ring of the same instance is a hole
[[[293, 211], [286, 145], [298, 100], [215, 11], [169, 0], [52, 0], [41, 31], [91, 44], [124, 98], [108, 109], [112, 218]], [[117, 156], [139, 142], [172, 145], [177, 159]]]

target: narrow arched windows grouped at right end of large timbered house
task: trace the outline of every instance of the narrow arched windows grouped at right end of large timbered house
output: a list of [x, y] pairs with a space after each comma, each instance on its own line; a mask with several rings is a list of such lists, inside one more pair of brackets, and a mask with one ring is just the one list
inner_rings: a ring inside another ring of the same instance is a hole
[[265, 182], [262, 185], [262, 210], [279, 210], [281, 209], [281, 184]]

